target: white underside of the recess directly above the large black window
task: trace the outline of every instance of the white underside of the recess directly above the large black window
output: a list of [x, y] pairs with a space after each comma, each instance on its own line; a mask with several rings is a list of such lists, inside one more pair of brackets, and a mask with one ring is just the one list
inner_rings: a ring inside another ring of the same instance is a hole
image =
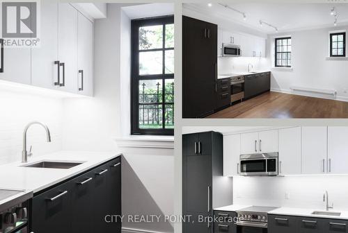
[[149, 3], [139, 4], [135, 6], [126, 6], [122, 10], [129, 19], [141, 19], [148, 17], [156, 17], [162, 15], [174, 15], [173, 3]]

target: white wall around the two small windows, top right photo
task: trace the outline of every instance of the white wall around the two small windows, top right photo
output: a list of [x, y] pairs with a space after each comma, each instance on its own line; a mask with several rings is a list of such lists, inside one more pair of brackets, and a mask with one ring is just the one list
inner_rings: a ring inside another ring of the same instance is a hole
[[[329, 56], [329, 31], [342, 29], [347, 30], [348, 26], [286, 33], [292, 37], [293, 70], [272, 69], [271, 89], [283, 92], [291, 92], [291, 86], [335, 89], [338, 99], [347, 101], [348, 60], [326, 60]], [[271, 48], [269, 64], [273, 64], [274, 36], [270, 35], [268, 40]]]

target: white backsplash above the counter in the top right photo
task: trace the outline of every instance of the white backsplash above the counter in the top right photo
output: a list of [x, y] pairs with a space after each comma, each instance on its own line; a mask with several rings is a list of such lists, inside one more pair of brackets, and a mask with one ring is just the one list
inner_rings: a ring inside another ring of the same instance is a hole
[[266, 58], [244, 58], [244, 57], [218, 57], [218, 73], [232, 74], [248, 71], [248, 64], [253, 64], [253, 70], [269, 70], [269, 61]]

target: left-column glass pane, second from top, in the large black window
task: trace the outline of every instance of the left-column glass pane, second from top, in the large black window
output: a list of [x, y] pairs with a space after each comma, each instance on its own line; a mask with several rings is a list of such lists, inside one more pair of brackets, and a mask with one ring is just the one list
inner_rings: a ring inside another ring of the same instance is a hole
[[162, 51], [139, 53], [139, 75], [162, 74]]

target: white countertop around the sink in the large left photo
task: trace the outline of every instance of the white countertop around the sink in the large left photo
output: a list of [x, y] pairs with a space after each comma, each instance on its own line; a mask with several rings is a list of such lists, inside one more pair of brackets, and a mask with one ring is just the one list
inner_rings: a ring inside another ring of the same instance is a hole
[[23, 167], [22, 165], [24, 164], [21, 162], [3, 164], [0, 166], [0, 188], [22, 189], [35, 193], [63, 180], [72, 178], [74, 175], [92, 169], [120, 155], [120, 153], [106, 152], [60, 151], [40, 157], [34, 156], [28, 159], [28, 164], [40, 162], [44, 159], [65, 162], [84, 162], [71, 169]]

